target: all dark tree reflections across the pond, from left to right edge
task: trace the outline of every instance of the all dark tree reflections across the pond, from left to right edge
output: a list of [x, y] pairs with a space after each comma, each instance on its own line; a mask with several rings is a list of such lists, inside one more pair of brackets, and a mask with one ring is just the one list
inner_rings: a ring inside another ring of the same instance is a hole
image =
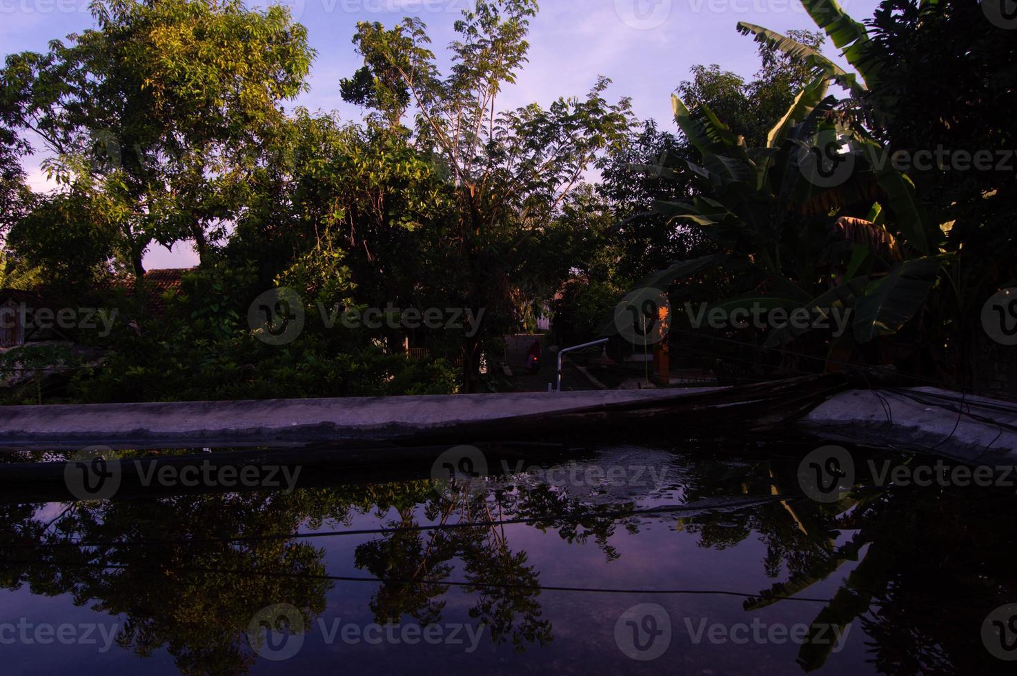
[[[690, 503], [790, 494], [753, 509], [664, 516], [697, 534], [703, 547], [729, 548], [750, 537], [765, 543], [760, 563], [782, 581], [749, 600], [746, 612], [782, 603], [780, 597], [858, 561], [816, 622], [858, 619], [874, 638], [872, 660], [883, 673], [951, 674], [969, 665], [999, 670], [978, 629], [989, 611], [1017, 600], [1010, 561], [1017, 534], [1000, 520], [1012, 513], [1012, 496], [986, 489], [859, 489], [841, 503], [820, 505], [794, 499], [793, 462], [691, 465], [682, 480]], [[291, 495], [190, 495], [74, 503], [46, 518], [39, 505], [0, 505], [0, 586], [70, 594], [75, 603], [124, 615], [122, 647], [140, 655], [165, 647], [186, 673], [238, 673], [254, 659], [243, 632], [257, 610], [290, 603], [310, 620], [323, 611], [332, 585], [320, 577], [322, 551], [309, 541], [257, 536], [374, 514], [390, 530], [359, 545], [355, 563], [380, 580], [370, 602], [376, 621], [439, 622], [452, 582], [465, 581], [460, 589], [471, 597], [471, 618], [495, 641], [511, 640], [520, 650], [543, 644], [552, 627], [539, 603], [539, 572], [525, 551], [513, 551], [506, 527], [496, 521], [523, 519], [570, 543], [592, 541], [613, 560], [619, 553], [608, 544], [611, 536], [619, 528], [639, 532], [637, 519], [625, 518], [634, 505], [595, 503], [545, 484], [492, 480], [485, 489], [444, 496], [429, 481], [416, 481]], [[431, 524], [439, 528], [427, 529]], [[847, 542], [837, 538], [844, 531], [854, 532]], [[148, 544], [19, 546], [69, 540]], [[799, 664], [819, 668], [829, 650], [805, 644]]]

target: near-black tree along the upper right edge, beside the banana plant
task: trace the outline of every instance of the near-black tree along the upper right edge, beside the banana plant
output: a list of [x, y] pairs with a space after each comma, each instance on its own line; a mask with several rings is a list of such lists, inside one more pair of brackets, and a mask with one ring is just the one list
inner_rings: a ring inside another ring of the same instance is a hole
[[891, 157], [935, 158], [928, 167], [912, 163], [908, 176], [923, 208], [947, 225], [944, 246], [958, 260], [945, 341], [957, 377], [991, 394], [1013, 395], [1010, 349], [988, 337], [980, 316], [986, 299], [1017, 286], [1017, 263], [1001, 255], [1017, 249], [1013, 32], [988, 22], [979, 3], [955, 0], [886, 0], [868, 27], [881, 73], [866, 101], [878, 113], [874, 134]]

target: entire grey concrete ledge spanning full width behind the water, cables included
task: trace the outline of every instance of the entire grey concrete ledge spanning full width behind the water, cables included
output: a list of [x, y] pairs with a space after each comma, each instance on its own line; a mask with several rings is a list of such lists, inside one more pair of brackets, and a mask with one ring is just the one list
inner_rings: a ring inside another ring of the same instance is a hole
[[[463, 436], [468, 442], [523, 440], [545, 431], [569, 438], [595, 429], [617, 432], [626, 420], [648, 415], [664, 423], [653, 429], [675, 437], [744, 435], [761, 421], [766, 429], [786, 430], [797, 421], [800, 431], [824, 440], [1017, 466], [1015, 405], [976, 396], [961, 403], [959, 393], [931, 387], [852, 389], [812, 400], [799, 396], [801, 388], [790, 380], [742, 388], [0, 407], [0, 450], [367, 448]], [[788, 396], [792, 408], [781, 404]]]

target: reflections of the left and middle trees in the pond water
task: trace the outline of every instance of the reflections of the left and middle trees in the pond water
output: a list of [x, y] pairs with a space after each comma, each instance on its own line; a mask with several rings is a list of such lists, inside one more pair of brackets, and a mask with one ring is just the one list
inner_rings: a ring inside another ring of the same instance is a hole
[[[538, 493], [535, 493], [536, 495]], [[536, 506], [505, 498], [512, 505], [560, 523], [543, 497]], [[447, 500], [429, 481], [371, 484], [282, 493], [183, 495], [145, 500], [108, 500], [58, 505], [59, 513], [40, 515], [43, 505], [0, 505], [0, 585], [34, 594], [68, 594], [77, 605], [123, 615], [117, 637], [122, 648], [141, 656], [160, 648], [184, 673], [240, 673], [254, 661], [244, 631], [261, 608], [289, 603], [308, 619], [321, 613], [333, 582], [323, 551], [308, 541], [259, 538], [296, 533], [302, 524], [349, 524], [356, 513], [393, 510], [388, 528], [416, 526], [418, 509], [431, 521], [492, 520], [483, 496]], [[51, 505], [52, 507], [52, 505]], [[589, 519], [588, 519], [589, 520]], [[598, 538], [613, 528], [610, 519], [589, 521]], [[585, 538], [571, 524], [567, 538]], [[238, 540], [240, 542], [223, 542]], [[75, 542], [95, 547], [68, 546]], [[141, 545], [127, 546], [135, 542]], [[121, 543], [121, 544], [116, 544]], [[31, 546], [26, 546], [31, 545]], [[513, 552], [499, 527], [447, 531], [398, 530], [357, 548], [356, 562], [380, 578], [371, 610], [381, 620], [407, 613], [421, 624], [441, 619], [440, 580], [458, 560], [463, 588], [475, 597], [471, 617], [486, 625], [495, 640], [511, 637], [518, 648], [546, 642], [549, 622], [537, 600], [539, 579], [526, 552]], [[435, 581], [429, 581], [435, 580]], [[496, 582], [491, 585], [491, 582]]]

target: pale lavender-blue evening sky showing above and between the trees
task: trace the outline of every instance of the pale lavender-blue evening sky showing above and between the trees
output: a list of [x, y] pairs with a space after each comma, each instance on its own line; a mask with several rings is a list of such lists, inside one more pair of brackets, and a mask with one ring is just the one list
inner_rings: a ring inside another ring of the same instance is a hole
[[[0, 0], [0, 53], [46, 51], [53, 39], [92, 27], [89, 0]], [[453, 24], [473, 0], [246, 0], [248, 7], [285, 4], [307, 26], [317, 55], [308, 78], [309, 90], [287, 107], [337, 111], [359, 120], [361, 111], [339, 96], [339, 81], [362, 65], [352, 38], [358, 21], [386, 26], [404, 16], [419, 16], [428, 25], [432, 49], [442, 62], [442, 48], [455, 38]], [[558, 97], [585, 95], [598, 75], [613, 84], [607, 99], [631, 97], [641, 119], [653, 118], [674, 130], [670, 94], [696, 64], [718, 64], [750, 78], [759, 68], [756, 43], [735, 30], [738, 21], [778, 33], [815, 29], [797, 0], [543, 0], [531, 20], [529, 63], [499, 100], [512, 109], [533, 102], [548, 106]], [[858, 20], [873, 15], [877, 0], [841, 0]], [[828, 56], [844, 64], [829, 43]], [[40, 156], [25, 170], [37, 190], [51, 189], [39, 169]], [[154, 245], [146, 268], [186, 267], [197, 262], [187, 244], [169, 251]]]

